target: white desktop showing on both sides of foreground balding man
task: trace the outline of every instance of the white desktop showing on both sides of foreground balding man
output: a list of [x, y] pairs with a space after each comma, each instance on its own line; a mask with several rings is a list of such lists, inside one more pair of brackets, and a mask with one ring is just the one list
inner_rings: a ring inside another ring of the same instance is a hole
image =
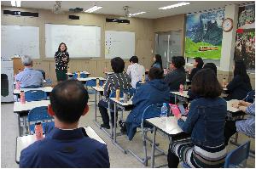
[[[91, 127], [84, 127], [87, 135], [90, 138], [94, 138], [97, 141], [101, 142], [102, 144], [106, 144], [100, 136], [97, 135], [97, 133], [91, 128]], [[19, 164], [20, 162], [20, 152], [22, 149], [25, 149], [30, 144], [33, 144], [36, 141], [35, 135], [27, 135], [22, 137], [16, 138], [16, 163]]]

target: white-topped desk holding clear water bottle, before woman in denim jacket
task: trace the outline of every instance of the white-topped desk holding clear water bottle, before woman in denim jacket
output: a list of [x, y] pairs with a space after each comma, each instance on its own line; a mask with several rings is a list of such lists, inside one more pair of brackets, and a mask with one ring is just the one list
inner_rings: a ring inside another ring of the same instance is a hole
[[[182, 119], [185, 121], [186, 117], [182, 117]], [[154, 151], [155, 151], [155, 135], [156, 130], [159, 129], [161, 132], [165, 133], [167, 136], [169, 136], [170, 142], [172, 142], [172, 137], [176, 136], [182, 136], [184, 134], [183, 130], [178, 127], [177, 125], [177, 118], [175, 116], [168, 116], [166, 120], [166, 124], [163, 124], [160, 121], [160, 117], [154, 117], [151, 119], [146, 119], [146, 122], [148, 122], [150, 125], [152, 125], [153, 128], [153, 144], [152, 144], [152, 151], [151, 151], [151, 168], [154, 168]], [[184, 135], [187, 136], [187, 135]], [[166, 166], [166, 165], [164, 165]]]

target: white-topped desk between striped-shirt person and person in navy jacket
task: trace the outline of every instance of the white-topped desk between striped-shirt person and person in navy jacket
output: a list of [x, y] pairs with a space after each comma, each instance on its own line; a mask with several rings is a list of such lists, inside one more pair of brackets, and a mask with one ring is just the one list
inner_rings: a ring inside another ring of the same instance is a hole
[[[109, 98], [111, 101], [113, 101], [113, 127], [112, 127], [112, 125], [110, 125], [110, 127], [111, 127], [111, 133], [113, 133], [113, 144], [115, 145], [115, 146], [117, 146], [120, 150], [122, 150], [123, 151], [123, 153], [125, 153], [126, 154], [126, 150], [125, 149], [123, 149], [118, 143], [117, 143], [117, 141], [116, 141], [116, 135], [117, 135], [117, 133], [116, 133], [116, 115], [117, 115], [117, 108], [118, 107], [121, 107], [121, 108], [123, 108], [123, 109], [125, 109], [125, 110], [129, 110], [130, 109], [130, 107], [132, 106], [132, 101], [131, 101], [131, 99], [130, 100], [128, 100], [128, 102], [127, 103], [124, 103], [123, 102], [123, 98], [120, 98], [120, 101], [117, 101], [115, 98]], [[109, 103], [110, 103], [110, 101], [109, 101]], [[108, 104], [108, 109], [109, 109], [109, 104]], [[110, 112], [110, 109], [109, 109], [109, 112]], [[110, 115], [111, 116], [111, 115]]]

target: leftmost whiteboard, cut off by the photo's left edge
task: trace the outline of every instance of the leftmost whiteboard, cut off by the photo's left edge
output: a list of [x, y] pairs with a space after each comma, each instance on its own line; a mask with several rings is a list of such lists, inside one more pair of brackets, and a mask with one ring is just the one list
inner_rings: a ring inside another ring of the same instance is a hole
[[21, 25], [2, 25], [2, 58], [9, 59], [17, 55], [29, 55], [39, 59], [39, 27]]

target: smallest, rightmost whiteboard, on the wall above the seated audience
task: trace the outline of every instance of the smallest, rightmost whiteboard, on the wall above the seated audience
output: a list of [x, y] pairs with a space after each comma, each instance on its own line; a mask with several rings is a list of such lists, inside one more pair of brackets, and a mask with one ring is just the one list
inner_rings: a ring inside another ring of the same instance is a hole
[[130, 31], [105, 31], [105, 58], [130, 59], [135, 55], [135, 33]]

